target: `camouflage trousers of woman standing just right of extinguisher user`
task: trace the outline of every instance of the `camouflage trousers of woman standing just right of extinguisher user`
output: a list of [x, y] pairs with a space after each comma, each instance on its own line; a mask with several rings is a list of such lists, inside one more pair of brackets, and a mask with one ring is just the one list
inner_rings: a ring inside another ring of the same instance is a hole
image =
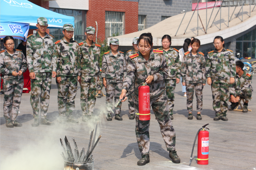
[[176, 87], [176, 79], [165, 79], [165, 88], [167, 95], [167, 107], [169, 114], [173, 114], [174, 107], [174, 91]]

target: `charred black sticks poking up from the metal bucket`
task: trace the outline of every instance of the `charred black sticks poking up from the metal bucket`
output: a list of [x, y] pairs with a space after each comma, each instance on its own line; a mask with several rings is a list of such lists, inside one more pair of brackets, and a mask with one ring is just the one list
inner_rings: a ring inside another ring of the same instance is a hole
[[97, 123], [96, 128], [95, 128], [95, 133], [94, 133], [93, 141], [92, 141], [92, 136], [93, 136], [94, 130], [92, 130], [92, 132], [91, 132], [89, 146], [88, 146], [86, 154], [84, 152], [84, 148], [82, 149], [82, 151], [79, 154], [78, 148], [77, 148], [77, 145], [76, 145], [76, 142], [75, 142], [74, 138], [72, 138], [73, 143], [75, 145], [75, 152], [74, 152], [74, 154], [73, 154], [73, 152], [71, 150], [70, 143], [68, 142], [68, 139], [66, 138], [66, 136], [65, 136], [66, 147], [64, 146], [64, 144], [62, 142], [62, 139], [60, 138], [60, 143], [61, 143], [62, 148], [64, 150], [64, 152], [62, 152], [62, 154], [61, 154], [63, 159], [65, 161], [68, 161], [68, 162], [89, 162], [89, 161], [91, 161], [92, 160], [92, 151], [95, 149], [96, 145], [98, 144], [98, 142], [99, 142], [99, 140], [101, 138], [101, 135], [100, 135], [99, 138], [97, 139], [97, 141], [95, 142], [96, 133], [97, 133], [97, 127], [98, 127], [98, 123]]

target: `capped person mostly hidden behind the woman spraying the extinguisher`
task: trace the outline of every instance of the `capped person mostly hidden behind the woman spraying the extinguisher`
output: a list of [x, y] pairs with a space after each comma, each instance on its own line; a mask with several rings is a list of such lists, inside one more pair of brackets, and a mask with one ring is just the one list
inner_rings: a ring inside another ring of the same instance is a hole
[[[138, 44], [137, 44], [138, 39], [139, 37], [133, 38], [133, 50], [129, 50], [126, 52], [126, 55], [125, 55], [126, 67], [128, 66], [130, 56], [138, 53], [139, 51]], [[129, 91], [133, 91], [133, 90], [134, 90], [134, 83], [131, 85], [131, 89]], [[134, 117], [134, 93], [128, 96], [128, 107], [129, 107], [129, 114], [130, 114], [129, 119], [133, 120], [135, 118]]]

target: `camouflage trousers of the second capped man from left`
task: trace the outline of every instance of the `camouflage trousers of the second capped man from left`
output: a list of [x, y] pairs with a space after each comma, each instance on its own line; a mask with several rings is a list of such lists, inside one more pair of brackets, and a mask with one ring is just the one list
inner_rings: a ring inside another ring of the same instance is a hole
[[77, 91], [77, 76], [61, 76], [58, 85], [58, 110], [62, 117], [71, 116], [75, 110], [75, 98]]

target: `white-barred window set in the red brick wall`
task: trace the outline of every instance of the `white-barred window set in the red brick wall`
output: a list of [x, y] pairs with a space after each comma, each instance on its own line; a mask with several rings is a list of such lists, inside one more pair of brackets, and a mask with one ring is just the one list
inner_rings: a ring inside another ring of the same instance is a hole
[[124, 35], [125, 13], [106, 11], [105, 15], [105, 38]]

